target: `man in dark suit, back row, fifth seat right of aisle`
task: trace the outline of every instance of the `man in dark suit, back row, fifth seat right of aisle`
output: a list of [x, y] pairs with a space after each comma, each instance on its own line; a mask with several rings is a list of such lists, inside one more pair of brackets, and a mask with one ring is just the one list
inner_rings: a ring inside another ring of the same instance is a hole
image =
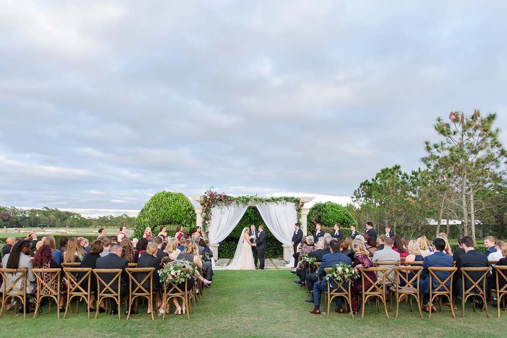
[[[489, 267], [488, 258], [486, 255], [481, 254], [480, 252], [474, 249], [474, 240], [468, 236], [463, 236], [461, 239], [461, 247], [465, 251], [464, 255], [458, 257], [456, 261], [456, 271], [454, 275], [454, 291], [456, 295], [460, 295], [462, 292], [462, 279], [465, 278], [465, 290], [468, 290], [472, 286], [472, 282], [464, 277], [461, 273], [461, 268], [487, 268]], [[482, 271], [468, 271], [468, 276], [470, 276], [475, 282], [477, 282], [481, 276], [484, 274]], [[482, 283], [480, 284], [482, 285]], [[477, 287], [472, 290], [473, 292], [480, 293], [481, 290]], [[450, 306], [450, 305], [448, 305]], [[481, 304], [482, 306], [482, 304]], [[456, 305], [454, 306], [457, 309]]]

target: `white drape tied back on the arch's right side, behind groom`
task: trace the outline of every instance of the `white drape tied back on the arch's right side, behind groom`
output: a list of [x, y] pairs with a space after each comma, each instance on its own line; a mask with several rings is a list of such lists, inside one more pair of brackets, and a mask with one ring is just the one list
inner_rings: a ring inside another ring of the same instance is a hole
[[[283, 244], [291, 245], [294, 224], [298, 220], [296, 205], [291, 202], [261, 203], [257, 208], [273, 236]], [[294, 257], [287, 266], [294, 266]]]

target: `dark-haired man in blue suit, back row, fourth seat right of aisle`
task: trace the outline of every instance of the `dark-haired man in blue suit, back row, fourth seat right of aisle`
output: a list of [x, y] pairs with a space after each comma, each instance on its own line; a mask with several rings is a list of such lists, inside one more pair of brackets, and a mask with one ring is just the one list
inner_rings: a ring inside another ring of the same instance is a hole
[[[445, 250], [445, 241], [442, 238], [433, 239], [433, 254], [426, 256], [423, 262], [423, 269], [421, 272], [421, 279], [419, 281], [419, 286], [421, 291], [424, 292], [424, 304], [429, 303], [429, 267], [440, 267], [440, 268], [452, 268], [454, 266], [454, 261], [452, 260], [452, 256], [447, 255]], [[451, 271], [436, 271], [435, 274], [440, 278], [440, 280], [444, 281], [449, 275]], [[434, 290], [440, 283], [436, 280], [436, 278], [432, 279], [433, 285], [431, 289]], [[451, 280], [448, 280], [446, 285], [449, 287], [451, 284]], [[424, 310], [426, 311], [426, 309]]]

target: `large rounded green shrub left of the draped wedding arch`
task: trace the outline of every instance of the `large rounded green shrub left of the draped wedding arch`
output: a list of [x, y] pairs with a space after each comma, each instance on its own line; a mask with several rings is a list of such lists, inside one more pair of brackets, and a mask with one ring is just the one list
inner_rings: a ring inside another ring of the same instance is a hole
[[146, 227], [152, 228], [157, 235], [160, 226], [176, 226], [195, 228], [196, 216], [192, 203], [182, 193], [160, 191], [150, 198], [135, 219], [134, 237], [140, 238]]

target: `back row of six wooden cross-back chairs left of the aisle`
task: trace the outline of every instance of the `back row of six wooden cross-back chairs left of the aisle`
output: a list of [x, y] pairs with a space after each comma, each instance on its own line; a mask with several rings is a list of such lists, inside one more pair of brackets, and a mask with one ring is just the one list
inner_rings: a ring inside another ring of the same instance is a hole
[[[49, 299], [49, 311], [51, 312], [51, 300], [55, 301], [57, 305], [57, 317], [60, 318], [60, 299], [63, 295], [66, 295], [66, 307], [63, 318], [67, 316], [70, 309], [70, 303], [73, 299], [76, 299], [76, 313], [79, 310], [79, 301], [83, 300], [87, 306], [88, 319], [90, 318], [90, 298], [92, 294], [96, 294], [96, 313], [95, 319], [99, 314], [99, 305], [103, 301], [116, 302], [120, 308], [122, 302], [122, 291], [121, 291], [121, 276], [122, 269], [92, 269], [92, 268], [80, 268], [80, 263], [63, 263], [62, 269], [32, 269], [32, 272], [37, 279], [37, 291], [35, 292], [35, 311], [33, 318], [38, 315], [40, 306], [44, 299]], [[129, 268], [125, 269], [129, 280], [128, 295], [125, 297], [125, 307], [128, 310], [127, 320], [130, 317], [132, 310], [132, 304], [136, 301], [135, 308], [137, 308], [137, 301], [139, 299], [146, 299], [149, 304], [153, 305], [153, 277], [155, 268], [136, 268], [136, 264], [129, 264]], [[63, 270], [64, 278], [66, 281], [66, 289], [62, 290], [61, 283], [61, 271]], [[190, 269], [186, 270], [190, 271]], [[91, 290], [92, 273], [97, 279], [97, 291]], [[135, 278], [135, 274], [143, 273], [146, 274], [141, 281]], [[8, 274], [16, 274], [16, 279], [10, 280]], [[2, 276], [3, 288], [2, 288], [2, 308], [0, 309], [0, 317], [2, 316], [4, 309], [6, 308], [9, 299], [19, 299], [23, 305], [23, 317], [26, 319], [26, 305], [27, 305], [27, 269], [0, 269], [0, 275]], [[104, 274], [110, 276], [114, 274], [114, 277], [109, 282], [105, 282], [103, 279]], [[81, 277], [79, 277], [81, 275]], [[16, 286], [18, 282], [22, 282], [22, 287]], [[149, 281], [149, 288], [143, 287], [145, 282]], [[117, 283], [118, 288], [113, 289], [112, 285]], [[86, 286], [87, 285], [87, 286]], [[191, 301], [194, 302], [194, 307], [197, 304], [196, 294], [202, 295], [203, 287], [202, 283], [194, 283], [194, 287], [188, 287], [187, 281], [185, 286], [181, 287], [174, 283], [163, 283], [163, 299], [165, 304], [165, 311], [162, 320], [165, 319], [165, 314], [170, 312], [170, 300], [172, 298], [178, 298], [185, 301], [187, 305], [187, 317], [190, 320], [190, 313], [193, 311]], [[199, 291], [197, 291], [199, 290]], [[127, 294], [126, 292], [124, 292]], [[152, 320], [155, 320], [154, 311], [151, 312]], [[121, 319], [121, 311], [118, 311], [118, 318]]]

